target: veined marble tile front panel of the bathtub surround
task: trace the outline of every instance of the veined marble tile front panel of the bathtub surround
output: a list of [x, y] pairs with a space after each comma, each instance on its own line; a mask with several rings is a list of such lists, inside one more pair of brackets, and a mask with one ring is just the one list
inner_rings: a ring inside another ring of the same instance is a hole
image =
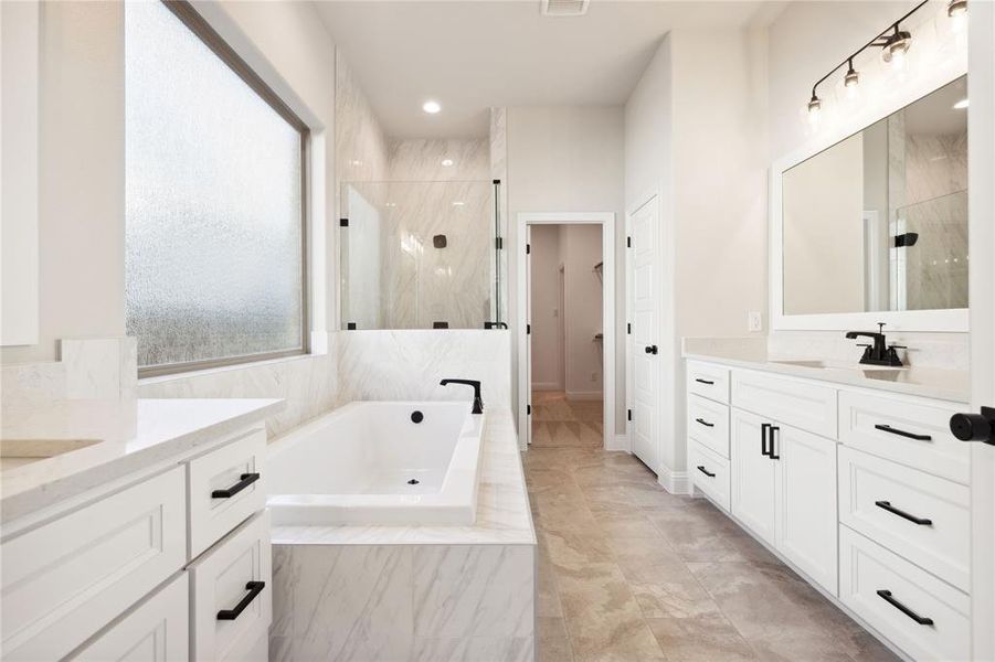
[[532, 545], [275, 545], [269, 659], [530, 661]]

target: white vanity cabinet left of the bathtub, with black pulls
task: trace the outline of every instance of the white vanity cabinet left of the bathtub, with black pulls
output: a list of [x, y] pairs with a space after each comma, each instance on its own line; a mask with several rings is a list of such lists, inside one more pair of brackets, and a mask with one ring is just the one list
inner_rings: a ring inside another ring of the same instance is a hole
[[257, 658], [272, 620], [265, 440], [223, 435], [10, 522], [3, 660]]

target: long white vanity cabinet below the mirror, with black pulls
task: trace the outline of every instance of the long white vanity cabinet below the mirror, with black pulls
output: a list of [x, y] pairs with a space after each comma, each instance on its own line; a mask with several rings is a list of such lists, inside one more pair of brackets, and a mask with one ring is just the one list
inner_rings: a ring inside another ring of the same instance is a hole
[[970, 460], [949, 430], [957, 405], [816, 375], [689, 361], [695, 489], [911, 659], [967, 660]]

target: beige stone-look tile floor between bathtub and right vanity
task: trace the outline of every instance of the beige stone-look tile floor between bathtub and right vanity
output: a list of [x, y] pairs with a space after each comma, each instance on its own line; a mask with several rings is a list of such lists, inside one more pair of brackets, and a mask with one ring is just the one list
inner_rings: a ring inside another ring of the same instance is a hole
[[523, 455], [540, 662], [896, 660], [703, 499], [626, 453]]

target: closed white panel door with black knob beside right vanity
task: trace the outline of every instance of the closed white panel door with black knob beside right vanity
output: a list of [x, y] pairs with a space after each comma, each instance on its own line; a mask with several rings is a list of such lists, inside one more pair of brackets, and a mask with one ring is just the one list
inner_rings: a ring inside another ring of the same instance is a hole
[[629, 217], [627, 248], [632, 279], [633, 453], [659, 471], [659, 273], [657, 254], [659, 211], [656, 197]]

